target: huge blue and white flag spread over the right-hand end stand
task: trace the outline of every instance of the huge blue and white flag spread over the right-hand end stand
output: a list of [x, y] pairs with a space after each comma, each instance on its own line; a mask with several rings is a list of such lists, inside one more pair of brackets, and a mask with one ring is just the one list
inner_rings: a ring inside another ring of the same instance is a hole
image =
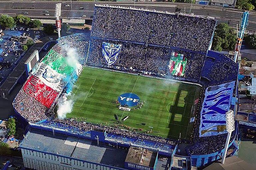
[[230, 110], [235, 81], [208, 87], [201, 109], [199, 137], [226, 133], [226, 112]]

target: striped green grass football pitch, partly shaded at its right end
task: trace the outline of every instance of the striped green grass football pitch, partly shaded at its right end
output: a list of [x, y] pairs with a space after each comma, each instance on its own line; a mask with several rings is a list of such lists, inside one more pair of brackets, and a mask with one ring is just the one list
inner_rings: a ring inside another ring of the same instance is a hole
[[[67, 118], [135, 129], [165, 138], [177, 139], [181, 133], [181, 138], [188, 138], [188, 131], [193, 128], [190, 125], [190, 118], [194, 117], [193, 103], [199, 92], [200, 87], [193, 84], [84, 67], [73, 88], [70, 98], [74, 106]], [[142, 108], [119, 110], [115, 101], [124, 93], [138, 95], [144, 103]], [[128, 119], [121, 123], [126, 116]]]

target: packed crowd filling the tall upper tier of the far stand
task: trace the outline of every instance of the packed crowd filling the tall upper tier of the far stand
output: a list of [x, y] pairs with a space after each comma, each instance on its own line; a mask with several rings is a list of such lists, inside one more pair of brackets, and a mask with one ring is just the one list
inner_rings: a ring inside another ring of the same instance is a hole
[[166, 12], [96, 6], [91, 37], [206, 52], [216, 20]]

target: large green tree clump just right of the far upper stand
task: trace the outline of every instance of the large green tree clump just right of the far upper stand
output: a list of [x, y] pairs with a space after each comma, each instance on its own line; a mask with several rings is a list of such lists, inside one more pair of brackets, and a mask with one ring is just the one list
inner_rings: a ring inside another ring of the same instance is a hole
[[217, 25], [212, 48], [213, 50], [221, 51], [222, 49], [233, 50], [237, 39], [236, 30], [226, 23]]

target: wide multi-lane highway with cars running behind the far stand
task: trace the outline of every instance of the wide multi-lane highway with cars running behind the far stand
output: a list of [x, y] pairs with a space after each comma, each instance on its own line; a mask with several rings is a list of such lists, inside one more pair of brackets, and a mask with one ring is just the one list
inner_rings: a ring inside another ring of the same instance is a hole
[[[31, 18], [54, 18], [55, 4], [58, 1], [0, 1], [0, 14], [8, 14], [15, 16], [23, 14]], [[61, 1], [61, 18], [75, 18], [75, 19], [92, 19], [94, 4], [109, 4], [119, 6], [132, 6], [134, 2], [72, 2], [72, 8], [70, 1]], [[69, 5], [69, 6], [68, 6]], [[175, 12], [176, 7], [180, 8], [182, 12], [190, 11], [190, 4], [184, 3], [166, 3], [166, 2], [136, 2], [137, 8], [155, 9], [161, 11]], [[79, 9], [83, 7], [83, 9]], [[49, 11], [49, 16], [45, 15], [45, 10]], [[28, 14], [25, 14], [27, 12]], [[215, 17], [219, 23], [228, 23], [230, 26], [235, 27], [240, 23], [241, 14], [243, 11], [222, 8], [209, 5], [196, 5], [193, 4], [191, 13], [200, 16]], [[86, 17], [82, 17], [86, 15]], [[256, 31], [256, 12], [250, 12], [248, 30]]]

